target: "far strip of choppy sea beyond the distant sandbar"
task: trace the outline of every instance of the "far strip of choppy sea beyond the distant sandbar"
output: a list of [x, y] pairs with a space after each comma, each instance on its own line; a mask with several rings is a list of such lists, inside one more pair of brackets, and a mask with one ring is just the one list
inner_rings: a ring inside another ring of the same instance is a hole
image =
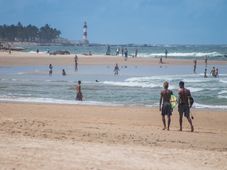
[[[138, 51], [138, 57], [160, 58], [165, 56], [165, 50], [167, 50], [167, 56], [171, 58], [197, 58], [204, 59], [205, 56], [209, 60], [227, 60], [227, 45], [110, 45], [110, 54], [116, 55], [117, 48], [127, 48], [128, 55], [134, 56], [135, 51]], [[40, 53], [47, 53], [57, 50], [67, 50], [70, 53], [77, 54], [92, 54], [105, 55], [107, 51], [107, 45], [89, 45], [89, 46], [29, 46], [25, 47], [26, 52], [36, 53], [39, 49]]]

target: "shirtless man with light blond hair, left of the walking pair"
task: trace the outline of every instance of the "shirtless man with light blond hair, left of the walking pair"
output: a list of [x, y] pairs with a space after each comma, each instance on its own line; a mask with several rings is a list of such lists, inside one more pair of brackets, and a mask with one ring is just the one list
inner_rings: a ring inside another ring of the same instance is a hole
[[161, 111], [162, 114], [162, 122], [163, 122], [163, 130], [166, 129], [166, 120], [165, 116], [168, 117], [168, 126], [167, 130], [169, 130], [170, 123], [171, 123], [171, 115], [173, 109], [171, 108], [171, 103], [170, 103], [170, 98], [173, 92], [169, 90], [169, 83], [165, 81], [163, 83], [164, 90], [161, 91], [160, 93], [160, 102], [159, 102], [159, 110]]

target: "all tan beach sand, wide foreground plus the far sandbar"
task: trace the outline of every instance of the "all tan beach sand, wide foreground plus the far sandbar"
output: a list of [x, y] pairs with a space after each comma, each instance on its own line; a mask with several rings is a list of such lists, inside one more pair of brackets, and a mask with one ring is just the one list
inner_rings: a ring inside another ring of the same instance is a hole
[[[159, 59], [78, 55], [79, 64], [157, 65]], [[73, 65], [74, 55], [0, 52], [0, 66]], [[208, 61], [227, 64], [227, 61]], [[193, 65], [167, 59], [168, 65]], [[204, 64], [199, 60], [198, 64]], [[179, 130], [162, 130], [158, 108], [0, 102], [0, 169], [226, 169], [227, 112], [192, 109]]]

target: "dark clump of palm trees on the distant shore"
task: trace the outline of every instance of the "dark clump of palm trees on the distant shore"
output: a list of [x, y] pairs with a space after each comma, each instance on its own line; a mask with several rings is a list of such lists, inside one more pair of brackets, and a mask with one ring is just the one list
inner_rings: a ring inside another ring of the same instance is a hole
[[52, 42], [59, 38], [61, 32], [48, 24], [40, 28], [34, 25], [0, 25], [0, 40], [22, 42]]

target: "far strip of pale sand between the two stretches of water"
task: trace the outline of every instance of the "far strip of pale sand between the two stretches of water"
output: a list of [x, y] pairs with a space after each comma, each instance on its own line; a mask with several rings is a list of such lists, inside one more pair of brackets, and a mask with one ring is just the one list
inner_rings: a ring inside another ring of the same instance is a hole
[[[74, 54], [71, 55], [49, 55], [43, 53], [26, 53], [26, 52], [8, 52], [0, 51], [0, 66], [23, 66], [23, 65], [74, 65]], [[103, 56], [92, 55], [86, 56], [78, 55], [78, 64], [108, 64], [115, 65], [127, 64], [127, 65], [157, 65], [159, 64], [159, 58], [131, 58], [127, 61], [121, 56]], [[189, 59], [165, 59], [163, 58], [163, 64], [168, 65], [193, 65], [193, 61]], [[198, 60], [197, 64], [204, 64], [204, 60]], [[227, 64], [227, 61], [215, 61], [208, 60], [208, 64]]]

